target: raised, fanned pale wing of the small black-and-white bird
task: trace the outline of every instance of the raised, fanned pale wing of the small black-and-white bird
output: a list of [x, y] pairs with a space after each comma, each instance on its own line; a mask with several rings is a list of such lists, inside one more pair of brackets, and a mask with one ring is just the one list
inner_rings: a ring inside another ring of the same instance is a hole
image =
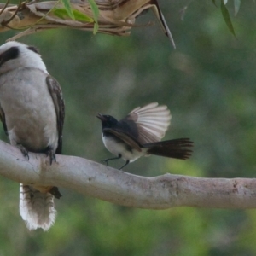
[[143, 108], [135, 108], [123, 122], [134, 122], [137, 126], [137, 141], [141, 144], [160, 142], [165, 136], [171, 122], [170, 110], [166, 106], [158, 106], [157, 102]]

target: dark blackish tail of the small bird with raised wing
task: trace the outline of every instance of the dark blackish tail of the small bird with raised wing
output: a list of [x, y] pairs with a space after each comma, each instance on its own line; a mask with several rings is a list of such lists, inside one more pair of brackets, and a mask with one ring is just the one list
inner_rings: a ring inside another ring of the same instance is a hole
[[159, 143], [148, 143], [144, 144], [143, 147], [148, 148], [148, 154], [186, 160], [192, 154], [192, 150], [189, 148], [193, 147], [193, 142], [189, 138], [180, 138]]

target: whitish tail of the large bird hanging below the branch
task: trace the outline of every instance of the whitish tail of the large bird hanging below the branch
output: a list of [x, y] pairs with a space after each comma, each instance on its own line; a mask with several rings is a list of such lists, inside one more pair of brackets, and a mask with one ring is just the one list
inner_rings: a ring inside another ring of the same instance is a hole
[[20, 184], [20, 216], [29, 230], [49, 230], [56, 217], [54, 196]]

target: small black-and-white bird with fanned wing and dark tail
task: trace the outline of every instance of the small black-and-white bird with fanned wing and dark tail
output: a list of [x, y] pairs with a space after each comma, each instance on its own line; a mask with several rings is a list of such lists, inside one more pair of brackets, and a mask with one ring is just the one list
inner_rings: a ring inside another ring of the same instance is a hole
[[125, 165], [139, 157], [150, 154], [186, 160], [192, 153], [193, 143], [189, 138], [179, 138], [160, 142], [170, 125], [171, 114], [166, 106], [158, 106], [157, 102], [143, 108], [135, 108], [125, 119], [118, 121], [111, 115], [97, 114], [102, 121], [102, 140], [105, 147], [117, 157], [123, 158]]

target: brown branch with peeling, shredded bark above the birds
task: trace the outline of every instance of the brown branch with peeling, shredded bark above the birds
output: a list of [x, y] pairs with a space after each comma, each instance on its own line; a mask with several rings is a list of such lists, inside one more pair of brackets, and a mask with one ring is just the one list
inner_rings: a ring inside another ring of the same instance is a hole
[[[94, 20], [94, 15], [88, 1], [70, 0], [70, 2], [72, 9], [79, 12], [80, 16], [77, 20], [72, 20], [69, 17], [60, 18], [56, 15], [54, 9], [64, 8], [60, 1], [32, 1], [31, 3], [24, 2], [20, 6], [12, 5], [8, 7], [0, 3], [0, 32], [10, 29], [20, 31], [26, 29], [14, 38], [9, 39], [15, 40], [28, 34], [52, 28], [68, 27], [92, 32], [94, 31], [95, 22], [97, 22], [97, 32], [128, 36], [130, 35], [131, 27], [137, 26], [135, 25], [137, 16], [146, 9], [152, 9], [160, 22], [163, 32], [166, 33], [166, 36], [170, 38], [174, 45], [172, 34], [166, 25], [157, 0], [96, 0], [99, 9], [97, 20]], [[85, 16], [93, 21], [83, 20]]]

